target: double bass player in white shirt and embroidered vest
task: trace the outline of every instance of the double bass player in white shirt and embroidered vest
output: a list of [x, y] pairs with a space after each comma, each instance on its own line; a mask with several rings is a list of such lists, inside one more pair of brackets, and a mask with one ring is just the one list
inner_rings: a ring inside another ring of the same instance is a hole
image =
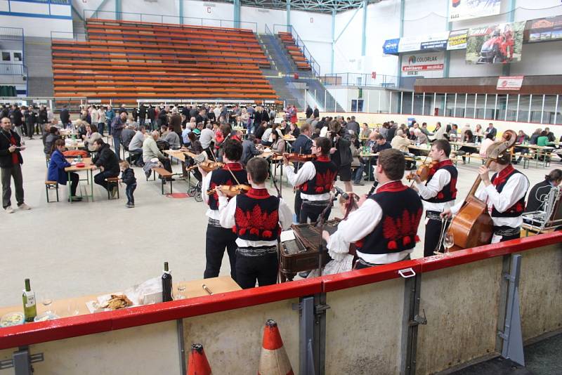
[[[491, 150], [492, 147], [488, 148], [488, 156]], [[488, 176], [490, 171], [496, 172], [491, 179]], [[509, 152], [500, 155], [490, 164], [489, 169], [481, 166], [478, 173], [484, 186], [478, 189], [475, 196], [488, 204], [488, 212], [494, 223], [492, 244], [521, 237], [523, 223], [521, 215], [525, 211], [525, 195], [529, 189], [528, 178], [511, 165]], [[445, 209], [442, 215], [452, 216], [452, 213], [457, 213], [461, 206], [462, 202]]]

